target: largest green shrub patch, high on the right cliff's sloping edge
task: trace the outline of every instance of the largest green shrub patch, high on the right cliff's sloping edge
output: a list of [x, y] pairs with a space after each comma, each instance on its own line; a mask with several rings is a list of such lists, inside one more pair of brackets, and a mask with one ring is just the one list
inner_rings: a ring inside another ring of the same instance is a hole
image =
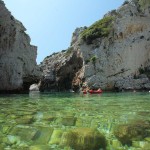
[[92, 44], [92, 41], [95, 40], [96, 38], [107, 37], [113, 28], [112, 27], [113, 19], [114, 17], [108, 16], [95, 22], [93, 25], [91, 25], [89, 28], [85, 29], [81, 33], [81, 38], [87, 44]]

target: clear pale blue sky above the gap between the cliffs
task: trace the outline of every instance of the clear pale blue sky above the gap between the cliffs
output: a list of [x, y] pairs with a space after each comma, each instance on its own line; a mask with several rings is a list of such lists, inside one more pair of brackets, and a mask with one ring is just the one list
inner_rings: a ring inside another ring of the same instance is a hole
[[124, 0], [3, 0], [23, 23], [31, 44], [38, 47], [37, 63], [70, 46], [77, 27], [90, 26]]

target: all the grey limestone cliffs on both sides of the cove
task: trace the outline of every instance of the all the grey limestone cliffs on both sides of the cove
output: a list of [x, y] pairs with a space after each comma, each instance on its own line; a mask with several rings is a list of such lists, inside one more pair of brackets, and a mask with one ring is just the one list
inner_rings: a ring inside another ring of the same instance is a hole
[[[150, 90], [150, 2], [125, 1], [90, 27], [75, 29], [68, 49], [36, 65], [36, 47], [0, 0], [0, 91]], [[40, 70], [42, 72], [40, 72]], [[42, 73], [42, 74], [41, 74]]]

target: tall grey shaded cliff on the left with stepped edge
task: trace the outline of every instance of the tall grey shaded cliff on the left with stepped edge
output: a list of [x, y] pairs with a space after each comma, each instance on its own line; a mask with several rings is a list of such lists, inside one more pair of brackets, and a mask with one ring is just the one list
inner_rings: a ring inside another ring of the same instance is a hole
[[0, 91], [28, 90], [38, 80], [37, 47], [0, 0]]

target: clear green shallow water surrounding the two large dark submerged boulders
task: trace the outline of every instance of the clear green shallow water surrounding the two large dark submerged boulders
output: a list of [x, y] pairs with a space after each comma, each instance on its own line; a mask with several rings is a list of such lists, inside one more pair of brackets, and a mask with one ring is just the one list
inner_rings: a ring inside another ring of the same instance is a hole
[[63, 133], [85, 127], [103, 133], [108, 150], [148, 150], [149, 136], [128, 147], [113, 134], [136, 120], [150, 120], [150, 93], [0, 95], [0, 150], [69, 150], [59, 146]]

